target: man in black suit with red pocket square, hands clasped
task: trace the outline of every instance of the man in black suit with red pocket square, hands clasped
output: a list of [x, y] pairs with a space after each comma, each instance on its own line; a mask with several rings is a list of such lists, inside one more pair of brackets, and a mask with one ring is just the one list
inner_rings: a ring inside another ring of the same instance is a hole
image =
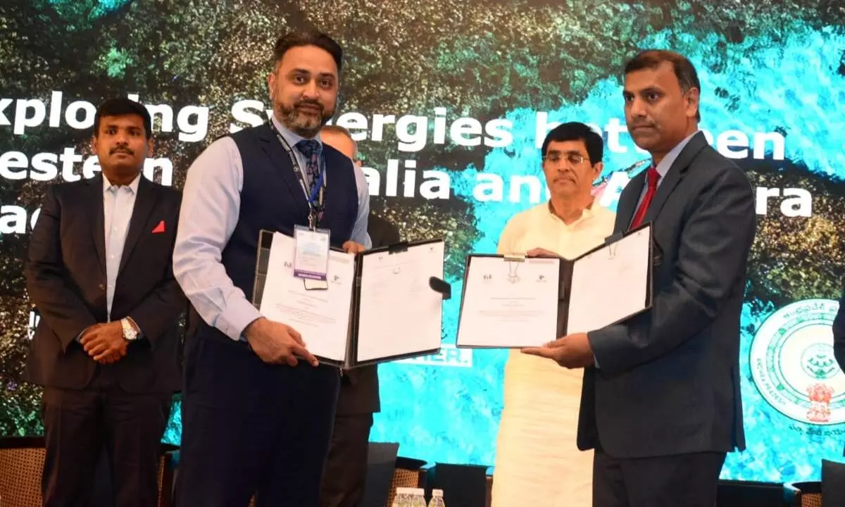
[[26, 282], [41, 322], [25, 379], [44, 386], [44, 504], [90, 504], [105, 445], [115, 504], [153, 506], [161, 436], [180, 386], [172, 273], [180, 194], [141, 176], [150, 114], [104, 102], [91, 147], [102, 175], [47, 188]]

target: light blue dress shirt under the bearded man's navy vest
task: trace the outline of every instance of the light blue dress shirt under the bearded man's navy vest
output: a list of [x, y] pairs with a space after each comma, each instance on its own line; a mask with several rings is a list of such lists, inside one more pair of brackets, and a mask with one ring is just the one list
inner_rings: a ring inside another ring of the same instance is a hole
[[[305, 157], [296, 148], [303, 138], [281, 125], [275, 116], [272, 121], [304, 168]], [[319, 135], [314, 139], [322, 146]], [[355, 183], [358, 213], [351, 239], [372, 248], [367, 233], [369, 191], [359, 169]], [[243, 340], [244, 328], [261, 317], [221, 263], [223, 249], [237, 224], [242, 189], [243, 162], [237, 144], [229, 136], [215, 140], [188, 168], [173, 248], [173, 275], [185, 297], [205, 322], [232, 340]]]

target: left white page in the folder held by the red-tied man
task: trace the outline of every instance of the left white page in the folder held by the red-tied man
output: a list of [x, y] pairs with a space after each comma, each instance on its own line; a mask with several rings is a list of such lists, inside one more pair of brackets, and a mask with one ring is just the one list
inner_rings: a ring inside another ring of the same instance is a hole
[[542, 346], [558, 338], [560, 259], [473, 257], [458, 346]]

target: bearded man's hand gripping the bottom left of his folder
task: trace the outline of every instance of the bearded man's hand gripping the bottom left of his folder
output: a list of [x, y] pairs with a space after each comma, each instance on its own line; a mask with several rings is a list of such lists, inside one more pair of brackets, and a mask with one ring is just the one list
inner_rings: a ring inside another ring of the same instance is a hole
[[311, 366], [319, 365], [317, 358], [305, 348], [302, 335], [287, 324], [262, 317], [249, 324], [243, 336], [264, 363], [296, 366], [299, 356]]

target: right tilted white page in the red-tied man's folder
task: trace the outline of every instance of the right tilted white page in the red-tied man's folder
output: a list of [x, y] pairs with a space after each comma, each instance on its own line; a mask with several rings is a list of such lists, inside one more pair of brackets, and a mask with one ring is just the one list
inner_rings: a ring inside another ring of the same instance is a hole
[[600, 330], [646, 308], [650, 227], [575, 261], [567, 334]]

